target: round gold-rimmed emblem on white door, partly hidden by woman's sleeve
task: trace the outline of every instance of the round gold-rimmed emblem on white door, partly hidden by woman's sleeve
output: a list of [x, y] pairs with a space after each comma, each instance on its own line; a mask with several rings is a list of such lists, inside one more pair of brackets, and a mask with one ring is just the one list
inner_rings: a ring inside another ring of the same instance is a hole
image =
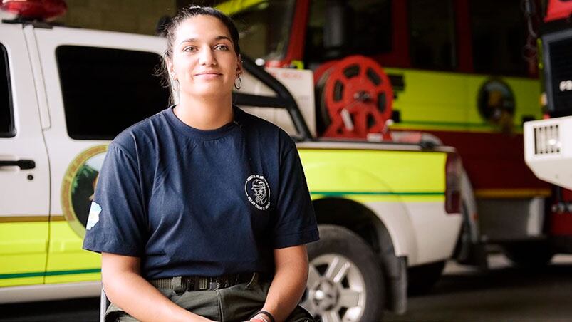
[[108, 145], [90, 147], [75, 157], [61, 184], [61, 209], [76, 234], [85, 236], [93, 192]]

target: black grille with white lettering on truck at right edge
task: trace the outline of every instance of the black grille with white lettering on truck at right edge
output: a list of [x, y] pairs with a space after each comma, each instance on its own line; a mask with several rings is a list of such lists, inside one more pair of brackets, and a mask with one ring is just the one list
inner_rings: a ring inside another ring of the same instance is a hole
[[545, 39], [548, 108], [552, 117], [572, 115], [572, 33], [558, 31]]

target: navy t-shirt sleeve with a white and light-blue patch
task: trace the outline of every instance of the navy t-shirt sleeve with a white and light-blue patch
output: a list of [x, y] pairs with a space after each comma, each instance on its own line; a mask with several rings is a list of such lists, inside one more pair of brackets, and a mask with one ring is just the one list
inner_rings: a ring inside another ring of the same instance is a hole
[[137, 162], [112, 142], [98, 177], [83, 249], [142, 256], [145, 212]]

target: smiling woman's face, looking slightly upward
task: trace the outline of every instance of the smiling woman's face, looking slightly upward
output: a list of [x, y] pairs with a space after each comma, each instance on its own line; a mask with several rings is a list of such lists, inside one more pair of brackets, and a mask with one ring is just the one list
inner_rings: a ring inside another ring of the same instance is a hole
[[172, 44], [170, 75], [179, 81], [181, 95], [197, 97], [230, 95], [241, 63], [227, 26], [213, 16], [183, 21]]

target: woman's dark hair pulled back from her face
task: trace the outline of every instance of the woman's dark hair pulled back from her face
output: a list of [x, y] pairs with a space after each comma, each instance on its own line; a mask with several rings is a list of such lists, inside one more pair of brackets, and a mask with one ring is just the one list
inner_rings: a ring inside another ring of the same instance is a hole
[[156, 74], [157, 76], [164, 77], [166, 87], [171, 85], [171, 80], [165, 60], [172, 59], [173, 57], [173, 43], [175, 42], [177, 28], [179, 28], [179, 26], [184, 21], [194, 16], [213, 16], [214, 18], [219, 19], [219, 21], [221, 21], [229, 30], [236, 56], [240, 56], [239, 31], [229, 16], [209, 6], [189, 6], [187, 8], [181, 9], [177, 15], [173, 17], [173, 19], [170, 19], [170, 21], [165, 21], [165, 23], [160, 26], [160, 29], [162, 29], [161, 33], [167, 38], [167, 49], [165, 50], [165, 59], [163, 59], [162, 64], [157, 70]]

